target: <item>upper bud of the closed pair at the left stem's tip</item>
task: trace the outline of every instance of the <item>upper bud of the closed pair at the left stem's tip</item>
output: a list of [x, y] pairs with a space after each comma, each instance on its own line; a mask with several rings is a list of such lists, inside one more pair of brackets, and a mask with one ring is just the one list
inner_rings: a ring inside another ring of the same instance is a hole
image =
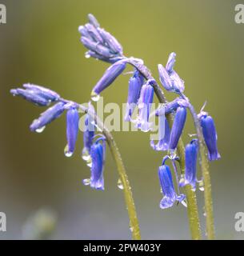
[[60, 98], [60, 95], [54, 92], [53, 90], [47, 89], [46, 87], [36, 86], [30, 83], [26, 83], [23, 85], [26, 90], [33, 92], [34, 94], [38, 94], [38, 96], [42, 98], [46, 98], [46, 100], [50, 102], [56, 102]]

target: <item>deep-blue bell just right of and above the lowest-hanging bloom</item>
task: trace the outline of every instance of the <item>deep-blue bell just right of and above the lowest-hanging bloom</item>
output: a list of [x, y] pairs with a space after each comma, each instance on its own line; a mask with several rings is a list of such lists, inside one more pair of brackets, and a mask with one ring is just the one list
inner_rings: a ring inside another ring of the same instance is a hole
[[197, 180], [197, 161], [198, 161], [198, 140], [193, 139], [186, 145], [186, 169], [185, 178], [179, 183], [179, 186], [186, 186], [190, 184], [193, 190], [196, 190]]

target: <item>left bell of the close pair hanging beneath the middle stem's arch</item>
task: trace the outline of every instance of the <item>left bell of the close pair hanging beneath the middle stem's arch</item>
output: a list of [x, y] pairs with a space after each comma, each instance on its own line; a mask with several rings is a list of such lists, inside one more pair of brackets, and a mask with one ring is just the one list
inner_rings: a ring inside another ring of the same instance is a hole
[[131, 119], [134, 108], [137, 105], [138, 99], [140, 97], [140, 91], [142, 89], [143, 82], [144, 78], [142, 74], [140, 74], [138, 70], [135, 70], [133, 77], [129, 80], [125, 121], [130, 121]]

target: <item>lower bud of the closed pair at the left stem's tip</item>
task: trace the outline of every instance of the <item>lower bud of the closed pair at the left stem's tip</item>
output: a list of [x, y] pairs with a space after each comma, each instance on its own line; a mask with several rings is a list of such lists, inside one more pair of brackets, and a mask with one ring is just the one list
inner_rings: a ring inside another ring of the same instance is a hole
[[24, 90], [18, 88], [10, 90], [10, 93], [14, 96], [21, 96], [22, 98], [25, 98], [28, 102], [32, 102], [38, 106], [48, 106], [50, 104], [50, 100], [43, 98], [42, 96], [35, 93], [33, 90]]

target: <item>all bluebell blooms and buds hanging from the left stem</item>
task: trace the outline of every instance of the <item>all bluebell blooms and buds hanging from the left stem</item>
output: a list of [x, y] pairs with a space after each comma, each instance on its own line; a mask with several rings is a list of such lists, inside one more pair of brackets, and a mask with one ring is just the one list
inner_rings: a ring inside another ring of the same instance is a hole
[[[10, 92], [14, 96], [21, 96], [37, 106], [50, 106], [51, 103], [54, 103], [53, 106], [42, 112], [39, 118], [31, 123], [31, 131], [41, 133], [50, 122], [59, 118], [66, 111], [67, 145], [65, 147], [65, 155], [66, 157], [71, 157], [74, 154], [75, 144], [78, 138], [79, 109], [81, 106], [76, 102], [61, 98], [53, 90], [33, 84], [24, 84], [23, 89], [13, 89]], [[90, 113], [94, 113], [94, 108], [91, 104], [88, 109]], [[90, 166], [91, 170], [90, 178], [84, 180], [84, 184], [90, 185], [97, 190], [104, 190], [103, 166], [106, 139], [102, 134], [95, 135], [96, 124], [93, 114], [86, 114], [84, 126], [82, 158], [86, 160], [87, 166]]]

